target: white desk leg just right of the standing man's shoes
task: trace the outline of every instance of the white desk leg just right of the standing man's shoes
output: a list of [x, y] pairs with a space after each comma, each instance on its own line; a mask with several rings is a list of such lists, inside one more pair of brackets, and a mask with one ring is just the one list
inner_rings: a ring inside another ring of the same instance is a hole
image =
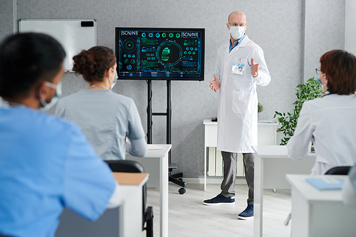
[[253, 236], [261, 237], [263, 228], [263, 159], [261, 159], [261, 157], [256, 153], [253, 215]]

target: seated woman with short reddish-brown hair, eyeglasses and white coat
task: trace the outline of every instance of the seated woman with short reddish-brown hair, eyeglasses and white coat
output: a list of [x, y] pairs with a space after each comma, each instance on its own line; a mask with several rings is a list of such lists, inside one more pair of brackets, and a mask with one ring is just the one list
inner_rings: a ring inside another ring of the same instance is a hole
[[304, 102], [287, 147], [290, 158], [303, 159], [313, 140], [312, 174], [325, 174], [333, 167], [356, 163], [356, 58], [347, 51], [328, 51], [317, 72], [327, 93]]

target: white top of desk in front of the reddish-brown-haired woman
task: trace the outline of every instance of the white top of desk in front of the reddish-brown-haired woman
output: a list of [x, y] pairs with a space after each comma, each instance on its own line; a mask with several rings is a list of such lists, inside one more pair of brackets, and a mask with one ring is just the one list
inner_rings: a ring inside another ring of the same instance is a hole
[[[261, 158], [289, 158], [287, 146], [253, 145], [252, 148]], [[310, 153], [305, 158], [315, 158], [315, 153]]]

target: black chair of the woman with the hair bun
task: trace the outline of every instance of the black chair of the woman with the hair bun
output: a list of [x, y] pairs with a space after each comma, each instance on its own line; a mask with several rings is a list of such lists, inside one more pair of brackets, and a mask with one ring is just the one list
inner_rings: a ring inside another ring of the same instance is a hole
[[[106, 160], [112, 172], [144, 173], [142, 165], [133, 160]], [[142, 186], [142, 231], [146, 230], [147, 237], [153, 237], [153, 209], [147, 206], [147, 186]], [[145, 227], [146, 223], [146, 227]]]

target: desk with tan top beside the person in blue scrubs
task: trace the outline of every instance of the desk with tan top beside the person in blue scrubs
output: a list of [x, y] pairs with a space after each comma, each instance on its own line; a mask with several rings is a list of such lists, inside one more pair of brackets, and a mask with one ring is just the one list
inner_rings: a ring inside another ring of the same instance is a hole
[[56, 237], [135, 237], [142, 236], [142, 186], [149, 174], [114, 173], [120, 184], [122, 204], [108, 209], [95, 221], [87, 221], [64, 209]]

